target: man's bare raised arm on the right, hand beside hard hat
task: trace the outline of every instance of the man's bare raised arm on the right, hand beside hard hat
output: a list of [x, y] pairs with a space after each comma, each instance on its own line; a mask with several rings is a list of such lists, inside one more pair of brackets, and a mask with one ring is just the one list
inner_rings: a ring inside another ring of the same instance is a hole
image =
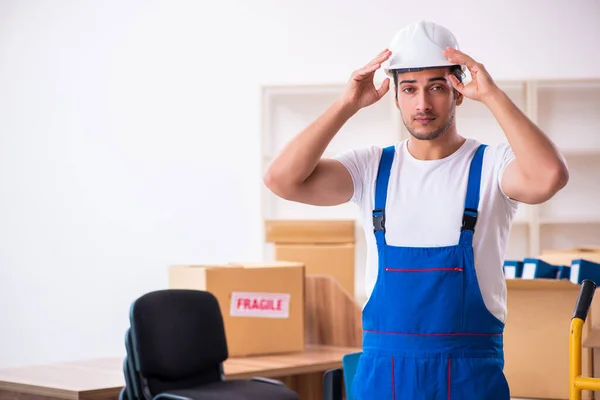
[[447, 49], [451, 62], [466, 65], [473, 80], [467, 85], [450, 76], [456, 90], [483, 102], [504, 131], [515, 153], [502, 176], [502, 191], [522, 203], [539, 204], [552, 198], [569, 180], [565, 160], [552, 141], [508, 98], [484, 66], [459, 50]]

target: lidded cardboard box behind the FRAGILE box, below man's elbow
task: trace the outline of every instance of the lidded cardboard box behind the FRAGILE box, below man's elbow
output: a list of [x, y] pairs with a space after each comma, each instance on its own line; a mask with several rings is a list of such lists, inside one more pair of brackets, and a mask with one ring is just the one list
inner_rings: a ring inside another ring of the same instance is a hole
[[266, 221], [265, 232], [276, 260], [302, 262], [307, 275], [331, 276], [354, 298], [354, 221]]

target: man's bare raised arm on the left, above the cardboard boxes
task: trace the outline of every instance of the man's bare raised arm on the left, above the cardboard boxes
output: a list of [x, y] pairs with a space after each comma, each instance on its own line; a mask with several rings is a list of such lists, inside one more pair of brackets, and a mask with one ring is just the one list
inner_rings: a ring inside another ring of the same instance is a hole
[[322, 158], [323, 153], [348, 119], [387, 93], [389, 79], [377, 89], [373, 76], [390, 54], [386, 49], [355, 71], [342, 96], [284, 147], [264, 176], [269, 190], [286, 200], [318, 206], [350, 200], [354, 193], [350, 173], [341, 162]]

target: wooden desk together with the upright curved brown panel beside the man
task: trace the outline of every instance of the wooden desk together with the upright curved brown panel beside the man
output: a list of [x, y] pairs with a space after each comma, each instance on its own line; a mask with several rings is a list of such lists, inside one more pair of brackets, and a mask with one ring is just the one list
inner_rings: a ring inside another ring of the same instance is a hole
[[[301, 400], [320, 400], [323, 373], [360, 351], [362, 341], [361, 308], [329, 276], [306, 278], [306, 339], [301, 353], [230, 358], [225, 376], [278, 379]], [[121, 358], [0, 370], [0, 400], [114, 400], [124, 385]]]

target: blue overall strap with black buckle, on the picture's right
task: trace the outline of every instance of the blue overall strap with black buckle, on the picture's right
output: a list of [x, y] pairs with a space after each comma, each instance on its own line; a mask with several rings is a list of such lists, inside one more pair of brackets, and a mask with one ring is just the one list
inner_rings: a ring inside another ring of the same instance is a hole
[[473, 245], [473, 235], [479, 207], [479, 189], [481, 186], [481, 167], [483, 165], [483, 153], [487, 145], [479, 146], [469, 168], [469, 182], [467, 184], [467, 196], [465, 199], [465, 210], [463, 212], [462, 227], [460, 229], [460, 244]]

